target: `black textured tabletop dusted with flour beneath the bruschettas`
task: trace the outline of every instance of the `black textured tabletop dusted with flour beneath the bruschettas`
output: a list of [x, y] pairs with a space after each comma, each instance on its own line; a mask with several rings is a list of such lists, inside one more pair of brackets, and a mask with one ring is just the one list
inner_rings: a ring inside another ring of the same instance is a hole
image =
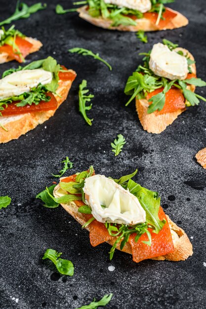
[[[0, 0], [0, 20], [14, 11], [16, 1], [6, 2]], [[0, 210], [0, 308], [75, 309], [110, 292], [114, 296], [108, 309], [206, 308], [206, 171], [194, 158], [206, 147], [206, 103], [188, 109], [161, 135], [143, 131], [134, 103], [124, 107], [125, 82], [142, 59], [138, 52], [163, 38], [189, 49], [197, 60], [198, 77], [206, 79], [205, 0], [170, 4], [189, 18], [189, 25], [149, 33], [148, 44], [133, 33], [94, 27], [76, 13], [56, 15], [58, 1], [46, 2], [46, 10], [15, 22], [20, 31], [43, 43], [27, 62], [51, 55], [76, 70], [78, 77], [54, 117], [0, 145], [0, 195], [12, 198], [10, 206]], [[60, 3], [71, 7], [72, 1]], [[67, 52], [76, 46], [99, 52], [113, 71], [90, 57]], [[13, 66], [18, 64], [1, 65], [0, 73]], [[83, 78], [95, 95], [88, 113], [94, 118], [92, 127], [78, 112]], [[206, 95], [206, 89], [197, 92]], [[119, 133], [127, 143], [115, 157], [110, 143]], [[72, 174], [90, 164], [97, 173], [114, 177], [138, 167], [135, 180], [161, 194], [165, 212], [191, 238], [194, 255], [185, 262], [135, 264], [130, 255], [116, 252], [110, 262], [108, 244], [91, 247], [88, 233], [63, 208], [44, 208], [35, 199], [55, 180], [51, 173], [60, 170], [66, 155], [74, 162]], [[63, 252], [62, 257], [74, 263], [73, 277], [57, 274], [51, 262], [41, 260], [47, 248]], [[108, 270], [111, 265], [113, 272]]]

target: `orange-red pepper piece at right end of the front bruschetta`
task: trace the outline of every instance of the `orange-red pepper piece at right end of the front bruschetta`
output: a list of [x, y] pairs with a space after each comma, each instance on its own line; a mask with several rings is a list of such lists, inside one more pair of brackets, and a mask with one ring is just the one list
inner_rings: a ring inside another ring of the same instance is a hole
[[159, 210], [159, 218], [160, 220], [165, 219], [166, 223], [163, 229], [158, 234], [153, 233], [152, 229], [148, 229], [151, 232], [152, 236], [151, 247], [142, 242], [142, 240], [148, 241], [148, 236], [146, 233], [141, 235], [137, 242], [135, 242], [134, 240], [136, 233], [133, 233], [129, 236], [129, 243], [132, 248], [132, 256], [134, 262], [138, 263], [140, 261], [155, 258], [157, 256], [165, 255], [174, 251], [170, 228], [162, 207], [160, 207]]

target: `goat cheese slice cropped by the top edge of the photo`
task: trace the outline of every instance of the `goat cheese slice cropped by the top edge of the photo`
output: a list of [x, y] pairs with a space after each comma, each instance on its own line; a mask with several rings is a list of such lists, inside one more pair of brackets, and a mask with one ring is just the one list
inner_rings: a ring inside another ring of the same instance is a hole
[[145, 13], [152, 7], [151, 0], [104, 0], [105, 3], [116, 4], [119, 7], [131, 8]]

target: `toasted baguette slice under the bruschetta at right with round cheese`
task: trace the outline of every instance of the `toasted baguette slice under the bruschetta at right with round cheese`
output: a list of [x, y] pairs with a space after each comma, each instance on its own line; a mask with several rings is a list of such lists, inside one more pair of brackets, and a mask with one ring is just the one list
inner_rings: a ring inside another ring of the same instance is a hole
[[[177, 47], [174, 50], [178, 51], [181, 50], [184, 55], [188, 55], [191, 60], [194, 60], [193, 55], [184, 48]], [[196, 74], [196, 65], [191, 65], [192, 73]], [[188, 85], [187, 87], [191, 91], [195, 91], [194, 85]], [[139, 116], [139, 120], [141, 122], [141, 125], [143, 126], [143, 129], [146, 130], [149, 133], [156, 133], [159, 134], [163, 132], [166, 127], [171, 124], [180, 114], [182, 114], [186, 109], [179, 109], [172, 113], [165, 113], [162, 115], [159, 115], [158, 112], [154, 112], [152, 114], [148, 114], [147, 110], [149, 107], [149, 102], [146, 99], [138, 100], [136, 99], [136, 111]]]

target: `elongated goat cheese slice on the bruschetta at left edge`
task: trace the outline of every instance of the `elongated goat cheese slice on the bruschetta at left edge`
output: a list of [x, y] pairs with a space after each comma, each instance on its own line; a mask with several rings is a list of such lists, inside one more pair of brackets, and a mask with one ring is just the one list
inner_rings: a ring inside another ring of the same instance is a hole
[[51, 72], [43, 69], [22, 70], [0, 79], [0, 100], [29, 92], [31, 88], [50, 83]]

